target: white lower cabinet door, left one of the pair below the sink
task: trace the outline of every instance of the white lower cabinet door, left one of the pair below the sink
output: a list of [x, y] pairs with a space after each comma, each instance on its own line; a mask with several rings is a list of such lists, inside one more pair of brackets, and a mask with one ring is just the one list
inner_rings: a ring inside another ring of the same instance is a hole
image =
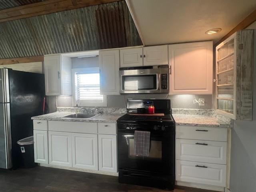
[[49, 131], [49, 164], [72, 166], [71, 133]]

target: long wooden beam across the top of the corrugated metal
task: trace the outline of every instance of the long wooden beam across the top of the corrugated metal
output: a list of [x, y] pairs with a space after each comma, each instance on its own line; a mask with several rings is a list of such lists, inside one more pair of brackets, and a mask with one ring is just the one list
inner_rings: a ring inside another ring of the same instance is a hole
[[120, 0], [46, 0], [43, 2], [0, 10], [0, 22], [23, 19], [116, 1]]

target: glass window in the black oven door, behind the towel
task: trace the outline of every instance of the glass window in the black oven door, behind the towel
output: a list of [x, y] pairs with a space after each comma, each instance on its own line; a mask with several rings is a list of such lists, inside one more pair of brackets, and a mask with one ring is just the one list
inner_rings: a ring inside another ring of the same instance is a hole
[[162, 142], [161, 141], [150, 141], [149, 156], [139, 156], [134, 153], [134, 139], [128, 139], [129, 146], [129, 158], [132, 159], [148, 159], [148, 160], [162, 160]]

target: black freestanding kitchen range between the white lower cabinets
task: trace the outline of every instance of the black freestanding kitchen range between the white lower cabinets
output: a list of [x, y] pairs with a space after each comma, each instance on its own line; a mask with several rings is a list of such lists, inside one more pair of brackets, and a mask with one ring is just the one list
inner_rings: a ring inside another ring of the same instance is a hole
[[[154, 105], [164, 116], [136, 115], [138, 109]], [[127, 114], [117, 120], [119, 182], [174, 189], [175, 121], [170, 100], [128, 100]], [[134, 152], [134, 132], [150, 132], [150, 152]]]

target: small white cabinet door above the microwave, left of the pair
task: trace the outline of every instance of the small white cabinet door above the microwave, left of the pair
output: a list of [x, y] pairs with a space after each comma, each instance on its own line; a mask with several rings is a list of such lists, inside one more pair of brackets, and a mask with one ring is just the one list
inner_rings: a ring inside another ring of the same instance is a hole
[[120, 50], [120, 67], [143, 66], [143, 48], [131, 48]]

